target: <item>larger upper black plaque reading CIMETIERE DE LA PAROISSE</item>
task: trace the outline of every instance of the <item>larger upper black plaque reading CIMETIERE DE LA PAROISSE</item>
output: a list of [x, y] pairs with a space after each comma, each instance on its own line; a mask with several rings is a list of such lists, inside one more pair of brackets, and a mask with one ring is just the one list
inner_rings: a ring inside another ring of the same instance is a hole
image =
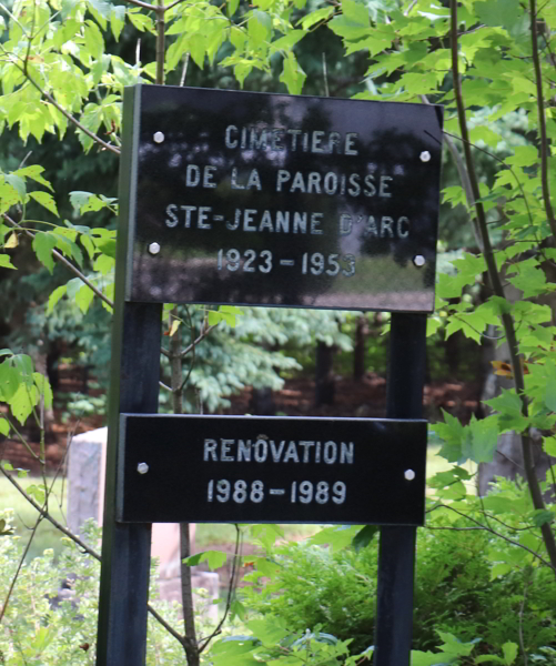
[[433, 311], [439, 107], [158, 85], [124, 104], [127, 300]]

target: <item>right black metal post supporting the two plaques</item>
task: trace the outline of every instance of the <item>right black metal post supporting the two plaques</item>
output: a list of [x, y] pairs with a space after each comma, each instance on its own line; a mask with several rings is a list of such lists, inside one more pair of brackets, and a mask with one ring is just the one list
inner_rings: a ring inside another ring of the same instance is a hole
[[[425, 381], [426, 315], [393, 314], [386, 417], [421, 418]], [[374, 666], [410, 666], [415, 527], [382, 527]]]

